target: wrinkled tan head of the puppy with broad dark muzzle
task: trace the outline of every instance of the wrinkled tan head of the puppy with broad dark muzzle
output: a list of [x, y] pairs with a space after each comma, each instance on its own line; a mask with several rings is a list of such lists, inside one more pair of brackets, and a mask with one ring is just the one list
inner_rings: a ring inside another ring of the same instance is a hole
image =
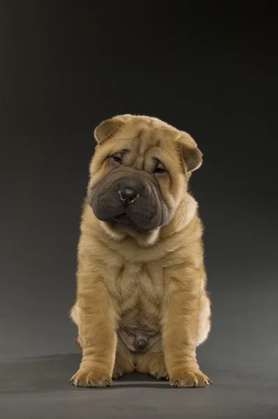
[[94, 131], [87, 200], [115, 231], [152, 232], [173, 219], [202, 153], [188, 133], [151, 117], [119, 115]]

